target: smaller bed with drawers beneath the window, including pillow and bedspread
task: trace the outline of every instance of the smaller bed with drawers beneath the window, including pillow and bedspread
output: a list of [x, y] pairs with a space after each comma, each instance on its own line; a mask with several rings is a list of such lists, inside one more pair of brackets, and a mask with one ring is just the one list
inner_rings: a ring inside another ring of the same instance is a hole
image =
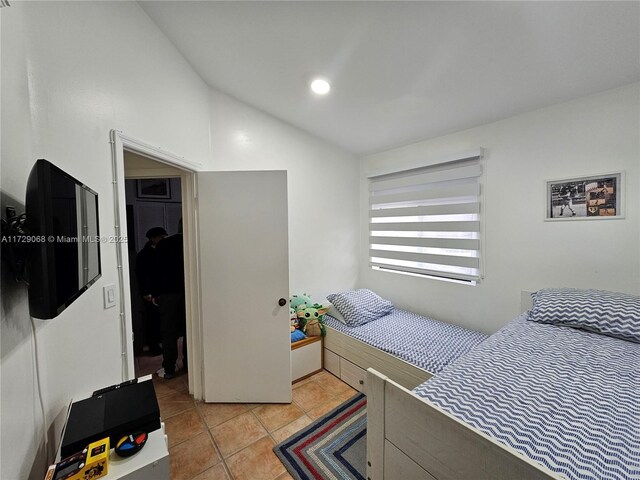
[[[480, 332], [397, 309], [390, 303], [376, 306], [382, 299], [368, 290], [348, 294], [351, 300], [356, 299], [350, 306], [354, 318], [358, 318], [355, 323], [361, 324], [347, 325], [348, 320], [338, 320], [331, 315], [340, 315], [336, 310], [325, 315], [324, 366], [359, 390], [364, 388], [366, 369], [370, 367], [406, 388], [413, 388], [487, 337]], [[335, 296], [331, 299], [340, 305]], [[342, 307], [348, 312], [349, 306]], [[386, 313], [373, 320], [359, 320], [369, 314], [375, 317], [380, 312]]]

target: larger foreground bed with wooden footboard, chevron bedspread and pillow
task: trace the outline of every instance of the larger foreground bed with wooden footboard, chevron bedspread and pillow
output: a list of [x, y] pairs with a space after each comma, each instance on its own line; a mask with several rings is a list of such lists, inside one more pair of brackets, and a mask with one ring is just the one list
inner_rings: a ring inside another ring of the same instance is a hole
[[637, 342], [640, 297], [546, 289], [413, 391], [371, 369], [367, 476], [640, 479]]

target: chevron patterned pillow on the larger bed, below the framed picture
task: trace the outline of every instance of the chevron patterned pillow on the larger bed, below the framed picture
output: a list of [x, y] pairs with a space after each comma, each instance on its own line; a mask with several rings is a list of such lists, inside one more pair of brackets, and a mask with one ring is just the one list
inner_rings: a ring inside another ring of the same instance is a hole
[[640, 343], [640, 297], [604, 290], [544, 288], [531, 295], [533, 322], [566, 325]]

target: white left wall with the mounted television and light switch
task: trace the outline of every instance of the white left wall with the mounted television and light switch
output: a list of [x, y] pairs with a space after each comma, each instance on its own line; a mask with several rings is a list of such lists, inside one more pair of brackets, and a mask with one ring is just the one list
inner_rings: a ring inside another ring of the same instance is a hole
[[[101, 233], [113, 234], [113, 128], [206, 164], [209, 89], [135, 2], [12, 2], [0, 16], [3, 203], [24, 205], [31, 167], [46, 158], [98, 192]], [[44, 431], [57, 445], [71, 397], [121, 381], [117, 309], [102, 309], [115, 245], [101, 254], [102, 278], [59, 317], [36, 320], [35, 337], [26, 289], [3, 279], [2, 479], [41, 479]]]

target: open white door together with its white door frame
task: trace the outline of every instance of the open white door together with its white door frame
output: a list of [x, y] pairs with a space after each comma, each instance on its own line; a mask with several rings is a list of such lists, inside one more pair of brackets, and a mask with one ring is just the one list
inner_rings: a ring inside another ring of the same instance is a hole
[[[111, 145], [116, 235], [126, 228], [125, 178], [181, 179], [189, 393], [208, 402], [289, 403], [287, 172], [205, 171], [116, 130]], [[125, 168], [125, 152], [139, 163]], [[126, 250], [116, 245], [123, 380], [134, 376]]]

